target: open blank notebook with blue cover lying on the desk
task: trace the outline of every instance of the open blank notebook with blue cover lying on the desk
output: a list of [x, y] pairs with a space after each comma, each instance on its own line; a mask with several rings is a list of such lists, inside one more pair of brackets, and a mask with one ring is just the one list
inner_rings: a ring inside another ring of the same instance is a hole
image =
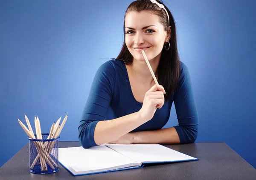
[[159, 144], [104, 144], [59, 148], [59, 163], [74, 176], [142, 168], [145, 163], [199, 160]]

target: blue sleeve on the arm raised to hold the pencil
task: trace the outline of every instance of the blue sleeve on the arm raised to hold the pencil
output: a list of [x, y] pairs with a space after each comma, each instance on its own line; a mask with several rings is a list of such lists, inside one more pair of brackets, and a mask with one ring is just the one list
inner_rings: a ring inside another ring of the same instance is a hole
[[79, 142], [83, 148], [97, 146], [94, 141], [96, 124], [105, 120], [114, 91], [115, 69], [108, 61], [96, 71], [79, 123]]

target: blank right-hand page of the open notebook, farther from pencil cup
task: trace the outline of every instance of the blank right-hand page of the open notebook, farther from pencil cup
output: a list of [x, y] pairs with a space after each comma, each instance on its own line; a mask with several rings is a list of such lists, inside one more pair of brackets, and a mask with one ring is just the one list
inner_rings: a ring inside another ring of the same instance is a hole
[[197, 160], [195, 157], [169, 149], [160, 144], [105, 144], [109, 148], [139, 163]]

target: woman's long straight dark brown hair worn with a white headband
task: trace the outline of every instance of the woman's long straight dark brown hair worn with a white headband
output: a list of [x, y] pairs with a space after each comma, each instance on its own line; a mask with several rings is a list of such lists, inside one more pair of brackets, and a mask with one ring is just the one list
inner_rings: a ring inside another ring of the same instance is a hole
[[[157, 0], [158, 3], [163, 4], [162, 1]], [[175, 20], [172, 16], [172, 13], [169, 9], [164, 5], [165, 9], [169, 14], [170, 26], [171, 26], [171, 38], [169, 40], [170, 48], [166, 51], [163, 47], [162, 54], [160, 57], [160, 62], [158, 66], [158, 83], [162, 85], [166, 91], [165, 100], [168, 100], [172, 97], [172, 93], [177, 87], [177, 83], [180, 77], [180, 60], [179, 54], [177, 51], [177, 37], [176, 37], [176, 26]], [[169, 31], [169, 23], [166, 11], [161, 9], [157, 4], [151, 3], [150, 0], [136, 0], [132, 2], [127, 10], [125, 11], [126, 15], [131, 11], [150, 11], [156, 14], [159, 17], [160, 23], [163, 24], [164, 29]], [[125, 37], [125, 20], [124, 20], [124, 37]], [[168, 45], [166, 45], [168, 47]], [[122, 49], [119, 55], [116, 58], [117, 60], [121, 60], [125, 64], [133, 63], [133, 56], [129, 52], [126, 44], [125, 38], [124, 43], [122, 45]]]

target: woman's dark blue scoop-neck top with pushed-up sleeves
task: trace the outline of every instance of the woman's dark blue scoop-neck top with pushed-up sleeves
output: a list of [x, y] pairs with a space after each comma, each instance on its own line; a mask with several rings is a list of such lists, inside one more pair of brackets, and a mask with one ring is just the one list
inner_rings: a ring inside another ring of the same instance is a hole
[[[170, 117], [172, 102], [175, 104], [178, 126], [174, 128], [180, 143], [193, 143], [198, 135], [198, 111], [186, 65], [180, 62], [178, 86], [154, 117], [131, 132], [162, 129]], [[79, 141], [84, 148], [97, 146], [94, 129], [102, 120], [115, 119], [139, 111], [143, 103], [135, 100], [125, 64], [108, 60], [96, 71], [87, 102], [79, 123]], [[110, 114], [110, 115], [109, 115]]]

